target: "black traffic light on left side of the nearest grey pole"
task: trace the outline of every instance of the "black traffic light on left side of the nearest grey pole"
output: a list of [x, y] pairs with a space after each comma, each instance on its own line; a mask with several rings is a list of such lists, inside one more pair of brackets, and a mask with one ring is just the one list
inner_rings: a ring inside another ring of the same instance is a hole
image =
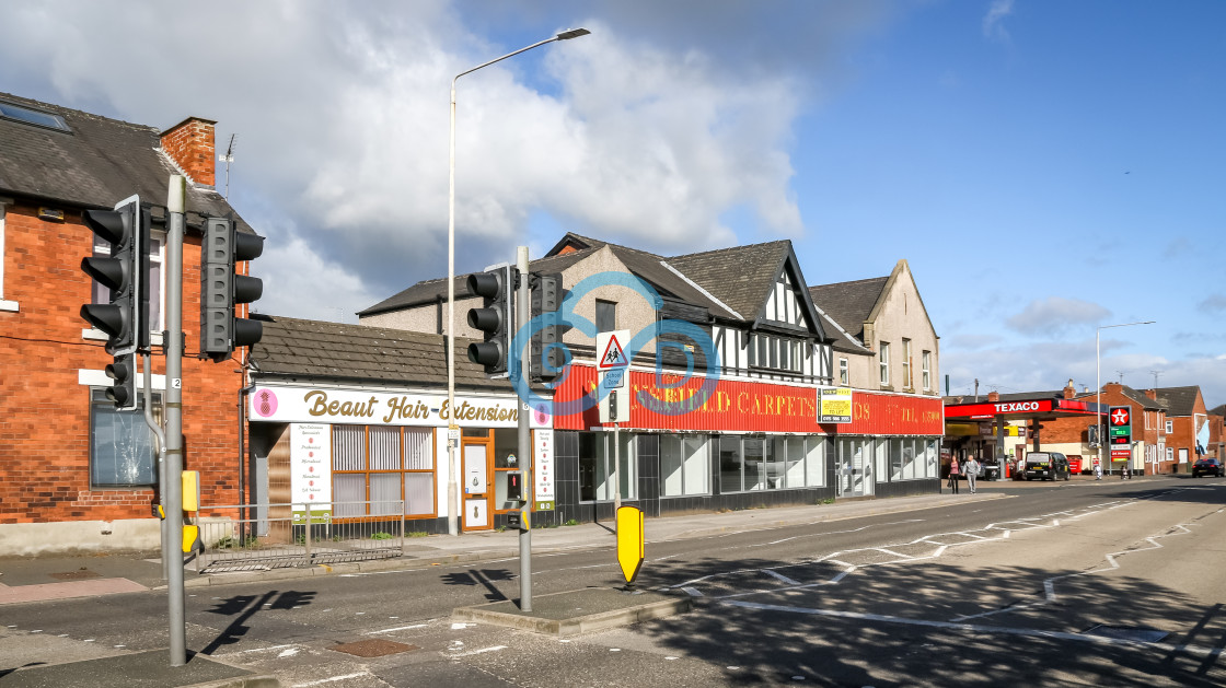
[[150, 348], [148, 244], [150, 218], [139, 196], [120, 201], [112, 211], [85, 211], [89, 231], [110, 245], [109, 256], [81, 260], [81, 269], [107, 288], [107, 304], [81, 306], [81, 317], [107, 334], [114, 361], [105, 373], [114, 380], [107, 398], [119, 410], [136, 408], [136, 351]]

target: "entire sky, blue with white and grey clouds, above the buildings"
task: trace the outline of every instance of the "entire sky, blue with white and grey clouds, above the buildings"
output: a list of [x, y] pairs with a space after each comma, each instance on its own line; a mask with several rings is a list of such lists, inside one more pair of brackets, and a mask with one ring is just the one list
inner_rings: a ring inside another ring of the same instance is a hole
[[954, 393], [1092, 388], [1097, 328], [1154, 320], [1102, 331], [1102, 378], [1226, 403], [1216, 0], [48, 0], [6, 24], [0, 91], [238, 135], [265, 312], [353, 322], [445, 274], [451, 76], [585, 26], [460, 81], [459, 271], [568, 229], [787, 237], [810, 284], [906, 258]]

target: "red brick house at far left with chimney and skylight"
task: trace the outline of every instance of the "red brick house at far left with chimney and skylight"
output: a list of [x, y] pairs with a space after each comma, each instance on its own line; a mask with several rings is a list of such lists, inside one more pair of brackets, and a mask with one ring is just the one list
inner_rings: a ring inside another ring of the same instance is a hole
[[[200, 235], [205, 218], [234, 218], [213, 189], [213, 122], [188, 119], [159, 132], [0, 93], [0, 555], [156, 548], [156, 449], [139, 411], [116, 411], [107, 337], [81, 318], [105, 302], [81, 260], [109, 251], [82, 211], [139, 193], [153, 217], [150, 304], [153, 391], [166, 312], [169, 178], [185, 174], [183, 321], [185, 468], [201, 471], [206, 502], [240, 501], [237, 361], [201, 362]], [[139, 378], [139, 386], [142, 378]], [[154, 414], [161, 416], [159, 399]]]

